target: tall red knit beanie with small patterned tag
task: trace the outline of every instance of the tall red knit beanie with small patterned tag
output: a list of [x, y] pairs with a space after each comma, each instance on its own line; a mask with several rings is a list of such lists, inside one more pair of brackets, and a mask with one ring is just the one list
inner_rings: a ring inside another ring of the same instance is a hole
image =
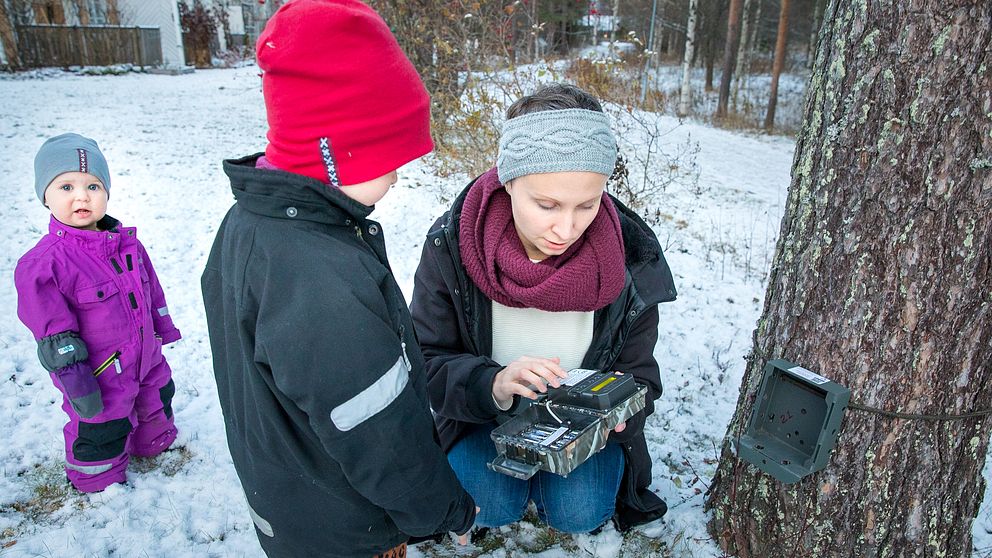
[[389, 27], [357, 0], [293, 0], [258, 38], [276, 167], [334, 186], [429, 153], [430, 98]]

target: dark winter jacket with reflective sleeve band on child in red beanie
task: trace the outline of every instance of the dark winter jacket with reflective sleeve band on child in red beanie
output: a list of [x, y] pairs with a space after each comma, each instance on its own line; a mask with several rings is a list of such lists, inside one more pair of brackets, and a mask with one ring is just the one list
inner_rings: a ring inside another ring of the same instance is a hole
[[475, 503], [434, 435], [424, 361], [368, 208], [224, 162], [237, 203], [203, 272], [231, 457], [269, 556], [368, 558], [465, 532]]

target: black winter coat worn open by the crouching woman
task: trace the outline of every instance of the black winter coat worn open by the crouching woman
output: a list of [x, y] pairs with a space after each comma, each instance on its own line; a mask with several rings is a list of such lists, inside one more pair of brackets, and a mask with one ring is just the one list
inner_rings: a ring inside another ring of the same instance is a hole
[[[474, 182], [473, 182], [474, 184]], [[486, 423], [516, 411], [493, 401], [492, 385], [503, 366], [492, 354], [492, 301], [479, 290], [461, 264], [459, 218], [468, 188], [427, 234], [414, 279], [411, 312], [427, 360], [428, 394], [445, 451], [472, 424]], [[627, 279], [620, 296], [596, 311], [593, 339], [583, 368], [620, 370], [648, 386], [645, 410], [632, 417], [611, 443], [623, 446], [626, 467], [619, 494], [617, 527], [626, 530], [664, 515], [665, 503], [648, 490], [651, 456], [644, 439], [644, 419], [661, 396], [658, 363], [658, 304], [675, 300], [672, 273], [657, 237], [636, 213], [613, 199], [620, 214], [626, 250]]]

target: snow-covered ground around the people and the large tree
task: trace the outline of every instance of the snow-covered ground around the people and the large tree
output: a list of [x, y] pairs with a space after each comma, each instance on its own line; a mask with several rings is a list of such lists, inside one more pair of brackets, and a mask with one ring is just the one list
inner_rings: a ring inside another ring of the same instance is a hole
[[[233, 201], [220, 161], [265, 145], [257, 73], [249, 66], [175, 77], [40, 72], [0, 79], [0, 177], [10, 196], [0, 213], [8, 230], [0, 241], [0, 556], [261, 555], [227, 451], [199, 294], [210, 243]], [[662, 307], [655, 354], [666, 391], [646, 426], [652, 487], [670, 511], [624, 539], [612, 529], [598, 537], [549, 537], [524, 522], [501, 533], [500, 548], [461, 553], [720, 555], [706, 533], [702, 493], [761, 310], [794, 142], [670, 118], [663, 124], [672, 130], [669, 144], [699, 146], [698, 183], [672, 184], [651, 205], [679, 288], [678, 301]], [[138, 463], [126, 485], [94, 495], [66, 489], [58, 394], [17, 320], [12, 281], [17, 258], [48, 222], [32, 188], [34, 154], [44, 139], [65, 131], [100, 142], [113, 176], [109, 212], [139, 227], [184, 335], [166, 349], [183, 449]], [[439, 194], [450, 196], [464, 180], [439, 179], [430, 165], [412, 163], [373, 215], [385, 225], [408, 297], [424, 233], [443, 211]], [[992, 476], [990, 467], [985, 476]], [[988, 504], [974, 533], [976, 555], [992, 552]], [[411, 555], [451, 552], [426, 545]]]

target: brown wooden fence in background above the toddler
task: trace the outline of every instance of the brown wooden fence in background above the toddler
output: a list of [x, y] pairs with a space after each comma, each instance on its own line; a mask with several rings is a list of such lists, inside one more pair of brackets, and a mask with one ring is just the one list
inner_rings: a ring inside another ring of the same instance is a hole
[[158, 27], [19, 25], [17, 49], [27, 68], [162, 63]]

